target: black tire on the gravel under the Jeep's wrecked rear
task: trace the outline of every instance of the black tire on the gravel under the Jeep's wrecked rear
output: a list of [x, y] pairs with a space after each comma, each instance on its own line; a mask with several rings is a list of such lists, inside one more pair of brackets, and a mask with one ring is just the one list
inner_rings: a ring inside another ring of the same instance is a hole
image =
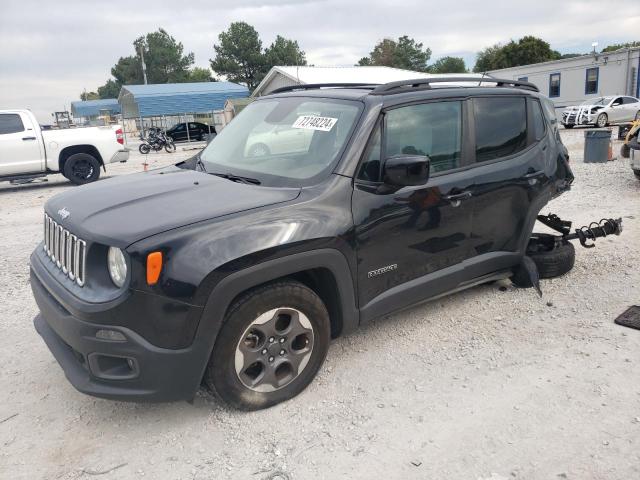
[[[533, 233], [526, 255], [538, 268], [539, 278], [556, 278], [569, 272], [576, 260], [576, 249], [572, 243], [559, 240], [557, 235]], [[517, 287], [532, 287], [528, 273], [518, 268], [511, 281]]]

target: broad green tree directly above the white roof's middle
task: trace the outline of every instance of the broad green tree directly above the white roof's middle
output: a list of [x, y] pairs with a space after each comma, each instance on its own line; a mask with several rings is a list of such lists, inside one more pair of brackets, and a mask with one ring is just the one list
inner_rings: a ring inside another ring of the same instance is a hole
[[380, 65], [395, 68], [404, 68], [417, 72], [428, 71], [431, 49], [423, 50], [422, 43], [403, 35], [398, 40], [385, 38], [379, 42], [369, 54], [358, 61], [358, 65]]

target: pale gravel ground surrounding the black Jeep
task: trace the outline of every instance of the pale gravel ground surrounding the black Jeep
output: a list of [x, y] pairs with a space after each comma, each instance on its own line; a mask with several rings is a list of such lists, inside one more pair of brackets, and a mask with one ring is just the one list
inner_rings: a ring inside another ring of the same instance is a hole
[[33, 329], [28, 277], [43, 203], [73, 187], [0, 184], [0, 478], [640, 478], [640, 331], [613, 323], [640, 303], [640, 182], [562, 135], [576, 181], [550, 207], [576, 225], [622, 216], [622, 237], [578, 248], [542, 299], [486, 285], [340, 338], [306, 391], [255, 413], [76, 392]]

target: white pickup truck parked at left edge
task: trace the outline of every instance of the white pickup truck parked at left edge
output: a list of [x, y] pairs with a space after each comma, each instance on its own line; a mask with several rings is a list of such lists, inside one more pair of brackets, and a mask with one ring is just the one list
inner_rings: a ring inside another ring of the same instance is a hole
[[0, 110], [0, 181], [62, 173], [81, 185], [128, 158], [119, 125], [42, 130], [29, 110]]

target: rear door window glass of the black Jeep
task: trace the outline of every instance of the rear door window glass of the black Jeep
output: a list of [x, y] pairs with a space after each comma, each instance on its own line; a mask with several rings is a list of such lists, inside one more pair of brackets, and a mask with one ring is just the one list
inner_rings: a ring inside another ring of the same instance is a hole
[[527, 146], [527, 109], [522, 97], [476, 98], [476, 162], [517, 153]]

